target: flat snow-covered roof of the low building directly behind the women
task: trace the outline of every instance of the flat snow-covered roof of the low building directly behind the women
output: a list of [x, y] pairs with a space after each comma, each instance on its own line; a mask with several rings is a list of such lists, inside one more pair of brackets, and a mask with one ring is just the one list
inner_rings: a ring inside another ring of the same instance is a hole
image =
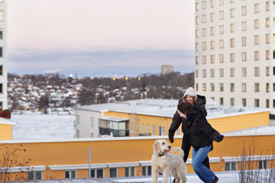
[[[177, 109], [178, 100], [175, 99], [137, 99], [115, 103], [102, 103], [90, 106], [80, 106], [76, 110], [91, 110], [98, 112], [115, 111], [135, 114], [144, 114], [157, 117], [173, 117]], [[268, 112], [268, 108], [243, 108], [233, 106], [218, 106], [212, 99], [206, 100], [208, 110], [207, 119], [230, 117], [257, 112]]]

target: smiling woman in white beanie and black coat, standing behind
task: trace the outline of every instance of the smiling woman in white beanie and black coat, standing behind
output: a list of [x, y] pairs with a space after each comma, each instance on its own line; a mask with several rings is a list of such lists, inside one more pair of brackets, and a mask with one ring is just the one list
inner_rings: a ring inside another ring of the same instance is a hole
[[[192, 106], [196, 106], [197, 108], [200, 108], [201, 111], [203, 112], [203, 116], [206, 117], [207, 112], [206, 112], [206, 97], [197, 95], [196, 91], [194, 88], [189, 87], [186, 92], [184, 93], [184, 97], [182, 99], [179, 99], [179, 103], [182, 101], [187, 101], [188, 103], [191, 103]], [[182, 123], [182, 125], [181, 125]], [[176, 111], [174, 116], [173, 116], [173, 121], [169, 127], [169, 141], [170, 143], [174, 142], [174, 134], [175, 131], [179, 128], [179, 125], [181, 125], [181, 131], [184, 133], [184, 136], [182, 137], [182, 143], [181, 143], [181, 149], [184, 150], [184, 162], [188, 159], [189, 156], [189, 151], [191, 148], [190, 142], [189, 142], [189, 137], [188, 137], [188, 130], [186, 127], [186, 119], [182, 118], [179, 116], [179, 113]], [[203, 160], [204, 166], [208, 167], [210, 169], [209, 165], [209, 158], [206, 156], [206, 159]]]

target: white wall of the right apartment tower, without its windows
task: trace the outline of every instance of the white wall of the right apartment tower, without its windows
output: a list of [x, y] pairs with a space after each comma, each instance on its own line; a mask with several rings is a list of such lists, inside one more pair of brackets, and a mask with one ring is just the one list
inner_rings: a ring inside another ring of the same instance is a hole
[[[223, 4], [220, 2], [223, 1]], [[266, 10], [266, 2], [269, 2], [269, 11]], [[243, 106], [242, 99], [246, 99], [246, 106], [255, 106], [255, 99], [259, 99], [259, 107], [266, 107], [266, 100], [269, 99], [270, 108], [274, 108], [273, 83], [275, 77], [273, 67], [274, 47], [274, 8], [273, 1], [263, 0], [211, 0], [195, 1], [198, 10], [195, 11], [195, 19], [199, 22], [195, 25], [195, 43], [198, 49], [195, 56], [198, 58], [195, 63], [195, 88], [197, 93], [214, 98], [220, 103], [223, 98], [223, 105], [230, 106], [230, 98], [234, 98], [234, 106]], [[206, 8], [203, 9], [203, 3]], [[259, 12], [255, 12], [255, 4], [259, 4]], [[242, 14], [242, 7], [246, 7], [246, 15]], [[196, 7], [195, 7], [196, 8]], [[234, 17], [230, 17], [230, 10], [234, 10]], [[223, 12], [223, 19], [219, 14]], [[214, 21], [210, 16], [214, 13]], [[206, 15], [206, 23], [202, 22], [203, 15]], [[266, 19], [270, 19], [270, 26], [266, 26]], [[259, 19], [259, 28], [254, 28], [254, 21]], [[246, 30], [242, 29], [242, 22], [246, 22]], [[230, 32], [230, 25], [234, 24], [234, 32]], [[223, 25], [223, 34], [219, 32], [219, 26]], [[214, 35], [210, 34], [210, 27], [214, 27]], [[203, 36], [203, 28], [206, 28], [206, 36]], [[266, 35], [270, 35], [270, 43], [265, 40]], [[259, 35], [260, 44], [254, 44], [254, 36]], [[242, 45], [242, 37], [246, 37], [246, 46]], [[230, 39], [234, 38], [234, 47], [230, 47]], [[223, 48], [219, 47], [219, 41], [223, 40]], [[214, 49], [210, 48], [210, 42], [214, 41]], [[203, 42], [206, 42], [206, 50], [203, 50]], [[270, 51], [270, 60], [266, 59], [266, 51]], [[259, 51], [260, 59], [254, 59], [254, 51]], [[242, 53], [246, 52], [246, 61], [242, 60]], [[230, 61], [230, 53], [234, 53], [234, 62]], [[219, 55], [223, 54], [223, 62], [219, 62]], [[214, 62], [211, 63], [210, 56], [214, 55]], [[203, 56], [206, 56], [206, 63], [203, 63]], [[259, 76], [254, 75], [254, 68], [259, 67]], [[269, 76], [266, 75], [266, 67], [269, 67]], [[230, 77], [230, 69], [234, 69], [234, 77]], [[242, 68], [246, 68], [246, 77], [242, 76]], [[203, 69], [206, 69], [206, 77], [203, 77]], [[210, 69], [214, 69], [214, 77], [210, 75]], [[219, 69], [223, 69], [223, 77], [219, 76]], [[219, 90], [219, 84], [223, 83], [223, 91]], [[230, 83], [234, 83], [234, 91], [230, 91]], [[242, 83], [246, 83], [246, 92], [242, 91]], [[255, 92], [254, 84], [259, 83], [259, 92]], [[270, 84], [270, 91], [266, 91], [266, 84]], [[203, 90], [206, 84], [206, 90]], [[214, 84], [214, 90], [210, 90]], [[275, 111], [274, 111], [275, 112]]]

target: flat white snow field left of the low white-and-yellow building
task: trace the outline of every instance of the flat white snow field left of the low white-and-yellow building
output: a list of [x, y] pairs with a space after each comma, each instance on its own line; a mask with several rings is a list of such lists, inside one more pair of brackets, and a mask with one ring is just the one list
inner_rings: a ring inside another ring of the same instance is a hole
[[74, 138], [74, 115], [12, 114], [13, 140]]

